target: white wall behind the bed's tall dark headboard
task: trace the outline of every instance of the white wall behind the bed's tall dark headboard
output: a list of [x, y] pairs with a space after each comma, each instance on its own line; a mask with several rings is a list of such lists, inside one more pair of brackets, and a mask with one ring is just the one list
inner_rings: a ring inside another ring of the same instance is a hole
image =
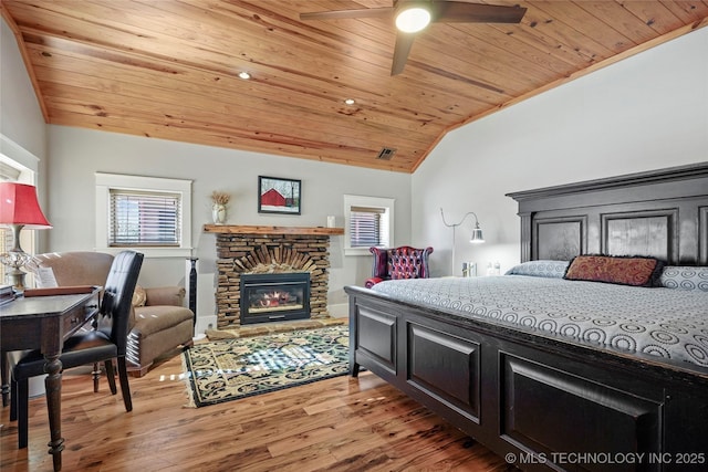
[[434, 275], [519, 262], [512, 191], [708, 160], [708, 28], [626, 59], [449, 133], [413, 176], [414, 243], [430, 244]]

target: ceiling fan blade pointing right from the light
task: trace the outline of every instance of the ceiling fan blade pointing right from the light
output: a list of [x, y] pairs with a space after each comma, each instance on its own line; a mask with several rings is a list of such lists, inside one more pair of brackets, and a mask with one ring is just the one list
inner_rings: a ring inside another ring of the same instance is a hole
[[435, 22], [441, 23], [519, 23], [525, 8], [498, 4], [464, 3], [459, 1], [436, 1]]

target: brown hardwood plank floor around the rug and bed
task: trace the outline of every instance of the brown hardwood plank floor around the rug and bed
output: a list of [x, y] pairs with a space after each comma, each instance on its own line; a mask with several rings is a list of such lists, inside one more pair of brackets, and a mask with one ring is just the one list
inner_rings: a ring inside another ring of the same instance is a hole
[[[188, 408], [179, 352], [131, 378], [133, 411], [105, 378], [64, 374], [64, 471], [510, 471], [371, 373]], [[29, 448], [0, 413], [0, 470], [51, 471], [44, 397], [30, 400]]]

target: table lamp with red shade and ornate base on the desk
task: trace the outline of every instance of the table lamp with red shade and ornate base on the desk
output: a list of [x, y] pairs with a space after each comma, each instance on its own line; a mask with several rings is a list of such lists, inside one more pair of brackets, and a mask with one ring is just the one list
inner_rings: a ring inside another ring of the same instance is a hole
[[12, 229], [13, 247], [0, 254], [0, 262], [12, 271], [8, 273], [12, 286], [18, 292], [24, 291], [22, 268], [32, 259], [20, 247], [20, 231], [28, 229], [52, 228], [37, 200], [37, 188], [25, 183], [0, 182], [0, 225]]

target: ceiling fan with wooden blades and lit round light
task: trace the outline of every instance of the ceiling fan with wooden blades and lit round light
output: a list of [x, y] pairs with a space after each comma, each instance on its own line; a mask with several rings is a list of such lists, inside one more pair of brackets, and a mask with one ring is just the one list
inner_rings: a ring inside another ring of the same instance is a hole
[[392, 18], [396, 45], [391, 75], [400, 74], [416, 33], [429, 23], [519, 23], [527, 9], [448, 0], [394, 0], [393, 7], [301, 13], [301, 20], [339, 20], [345, 18]]

